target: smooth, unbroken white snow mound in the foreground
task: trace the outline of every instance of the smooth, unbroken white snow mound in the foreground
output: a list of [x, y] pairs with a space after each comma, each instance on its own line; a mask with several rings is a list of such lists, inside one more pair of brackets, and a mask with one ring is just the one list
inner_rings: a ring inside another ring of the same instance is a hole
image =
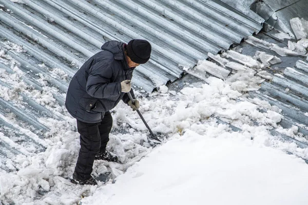
[[249, 137], [215, 125], [187, 130], [82, 204], [306, 204], [304, 161]]

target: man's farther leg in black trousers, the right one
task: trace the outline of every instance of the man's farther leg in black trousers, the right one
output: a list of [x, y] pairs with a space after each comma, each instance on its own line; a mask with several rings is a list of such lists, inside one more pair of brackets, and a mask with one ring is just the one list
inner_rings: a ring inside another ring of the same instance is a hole
[[101, 149], [100, 153], [105, 153], [107, 143], [109, 141], [109, 133], [112, 128], [112, 116], [108, 111], [105, 113], [103, 120], [101, 121], [101, 125], [99, 125], [100, 135], [101, 135]]

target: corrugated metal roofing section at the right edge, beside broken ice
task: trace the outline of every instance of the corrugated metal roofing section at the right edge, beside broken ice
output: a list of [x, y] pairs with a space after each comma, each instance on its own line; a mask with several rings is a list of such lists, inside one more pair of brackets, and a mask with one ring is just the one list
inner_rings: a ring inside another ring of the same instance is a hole
[[308, 136], [308, 63], [298, 60], [295, 68], [286, 68], [283, 75], [276, 74], [271, 83], [261, 84], [259, 98], [282, 110], [284, 128], [298, 126]]

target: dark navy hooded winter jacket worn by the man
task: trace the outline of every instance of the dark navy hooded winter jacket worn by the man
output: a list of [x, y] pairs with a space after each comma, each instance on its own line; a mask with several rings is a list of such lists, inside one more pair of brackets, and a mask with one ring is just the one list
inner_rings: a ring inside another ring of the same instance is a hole
[[133, 68], [127, 64], [124, 46], [115, 40], [106, 42], [103, 51], [90, 57], [73, 76], [65, 107], [74, 118], [100, 122], [104, 113], [117, 106], [121, 99], [128, 103], [127, 93], [121, 92], [121, 82], [131, 79]]

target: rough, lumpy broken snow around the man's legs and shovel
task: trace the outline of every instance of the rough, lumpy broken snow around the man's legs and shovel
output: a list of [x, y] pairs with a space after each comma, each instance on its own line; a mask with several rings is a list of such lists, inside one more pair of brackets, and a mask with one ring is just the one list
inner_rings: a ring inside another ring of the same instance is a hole
[[[242, 94], [221, 79], [209, 77], [207, 83], [201, 87], [190, 85], [191, 87], [186, 87], [181, 92], [162, 87], [161, 93], [155, 92], [149, 98], [140, 98], [140, 111], [154, 132], [168, 133], [170, 138], [186, 138], [191, 135], [189, 133], [197, 133], [199, 138], [199, 135], [204, 135], [205, 138], [229, 136], [233, 140], [233, 136], [241, 136], [244, 140], [254, 139], [250, 143], [261, 147], [277, 145], [268, 132], [270, 126], [276, 124], [277, 117], [268, 117], [267, 113], [261, 113], [258, 111], [259, 105], [238, 101], [244, 100], [241, 98]], [[275, 111], [270, 105], [266, 106], [268, 110]], [[112, 179], [118, 179], [127, 168], [147, 156], [152, 148], [146, 137], [146, 127], [136, 112], [120, 103], [112, 116], [114, 126], [107, 149], [118, 154], [123, 164], [96, 161], [93, 174], [98, 176], [110, 172]], [[68, 117], [67, 113], [62, 117], [64, 120], [42, 120], [44, 125], [52, 128], [52, 137], [45, 139], [48, 144], [45, 152], [30, 156], [18, 155], [7, 161], [7, 166], [11, 165], [16, 171], [10, 174], [2, 172], [0, 176], [1, 199], [5, 205], [8, 204], [6, 201], [15, 204], [70, 205], [76, 203], [82, 193], [91, 195], [96, 189], [75, 186], [68, 180], [77, 159], [79, 136], [75, 132], [75, 120]], [[233, 133], [227, 126], [218, 125], [216, 117], [232, 121], [243, 132]], [[259, 126], [255, 125], [254, 120], [258, 121]], [[121, 133], [120, 128], [126, 132]], [[281, 147], [283, 151], [295, 149], [293, 145], [279, 143], [278, 148]], [[190, 156], [191, 149], [187, 147], [186, 151], [189, 152], [187, 156]], [[306, 150], [297, 149], [295, 153], [299, 152], [303, 157], [307, 155]], [[141, 176], [140, 173], [137, 174], [139, 175]], [[100, 182], [99, 187], [102, 185], [103, 182]], [[38, 200], [35, 200], [36, 197]]]

